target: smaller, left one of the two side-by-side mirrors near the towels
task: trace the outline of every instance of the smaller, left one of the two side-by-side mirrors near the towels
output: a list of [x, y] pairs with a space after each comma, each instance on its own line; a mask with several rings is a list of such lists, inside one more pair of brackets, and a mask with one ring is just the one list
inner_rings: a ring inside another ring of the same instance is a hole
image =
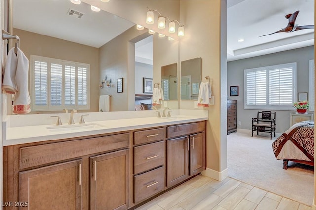
[[177, 100], [177, 69], [178, 64], [173, 63], [161, 67], [161, 87], [164, 100]]

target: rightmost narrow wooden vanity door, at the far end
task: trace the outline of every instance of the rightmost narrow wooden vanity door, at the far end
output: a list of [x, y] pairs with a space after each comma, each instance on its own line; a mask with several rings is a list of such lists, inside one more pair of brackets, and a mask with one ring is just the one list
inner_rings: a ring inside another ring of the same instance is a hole
[[190, 175], [205, 169], [205, 133], [190, 135]]

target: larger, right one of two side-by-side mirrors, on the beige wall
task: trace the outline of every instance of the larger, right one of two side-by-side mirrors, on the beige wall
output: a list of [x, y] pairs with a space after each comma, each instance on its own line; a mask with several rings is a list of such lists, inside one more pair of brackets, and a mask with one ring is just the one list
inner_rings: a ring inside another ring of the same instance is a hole
[[197, 100], [202, 74], [202, 58], [181, 61], [181, 99]]

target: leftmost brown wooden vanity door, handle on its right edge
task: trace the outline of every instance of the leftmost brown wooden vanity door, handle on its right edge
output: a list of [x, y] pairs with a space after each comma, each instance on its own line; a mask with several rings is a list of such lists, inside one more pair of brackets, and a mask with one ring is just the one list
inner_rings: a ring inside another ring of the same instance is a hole
[[81, 209], [81, 160], [19, 172], [20, 209]]

